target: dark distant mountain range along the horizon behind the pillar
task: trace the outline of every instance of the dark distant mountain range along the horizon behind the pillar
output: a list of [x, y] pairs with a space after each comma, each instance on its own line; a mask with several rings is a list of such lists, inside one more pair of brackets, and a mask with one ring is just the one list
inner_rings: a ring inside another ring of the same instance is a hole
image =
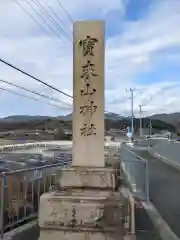
[[[153, 118], [153, 116], [152, 116]], [[72, 129], [72, 114], [59, 117], [48, 117], [48, 116], [27, 116], [27, 115], [16, 115], [9, 116], [0, 119], [0, 132], [13, 131], [18, 129]], [[138, 118], [134, 119], [134, 130], [135, 132], [139, 129], [140, 121]], [[149, 118], [143, 119], [143, 127], [148, 128], [150, 124]], [[152, 119], [153, 128], [159, 130], [169, 130], [172, 132], [177, 131], [177, 126], [167, 123], [162, 120]], [[131, 126], [131, 119], [129, 117], [119, 116], [114, 113], [105, 114], [105, 129], [124, 129], [125, 126]], [[180, 127], [180, 126], [179, 126]]]

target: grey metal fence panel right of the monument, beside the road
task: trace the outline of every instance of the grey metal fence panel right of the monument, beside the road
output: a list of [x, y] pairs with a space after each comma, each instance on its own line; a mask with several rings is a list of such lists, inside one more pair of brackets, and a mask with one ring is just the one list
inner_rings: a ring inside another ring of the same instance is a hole
[[136, 156], [124, 144], [120, 148], [121, 176], [132, 194], [149, 201], [148, 162]]

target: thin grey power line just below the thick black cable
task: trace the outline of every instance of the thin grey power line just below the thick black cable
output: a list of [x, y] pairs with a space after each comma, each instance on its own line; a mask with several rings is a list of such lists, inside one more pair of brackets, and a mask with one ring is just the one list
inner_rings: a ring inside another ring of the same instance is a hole
[[65, 105], [67, 105], [67, 106], [72, 107], [71, 104], [68, 104], [68, 103], [66, 103], [66, 102], [63, 102], [63, 101], [61, 101], [61, 100], [59, 100], [59, 99], [57, 99], [57, 98], [49, 97], [49, 96], [47, 96], [47, 95], [45, 95], [45, 94], [38, 93], [38, 92], [36, 92], [36, 91], [34, 91], [34, 90], [27, 89], [27, 88], [25, 88], [25, 87], [19, 86], [19, 85], [17, 85], [17, 84], [12, 83], [12, 82], [9, 82], [9, 81], [6, 81], [6, 80], [2, 80], [2, 79], [0, 79], [0, 82], [9, 84], [9, 85], [11, 85], [11, 86], [13, 86], [13, 87], [16, 87], [16, 88], [25, 90], [25, 91], [27, 91], [27, 92], [33, 93], [33, 94], [35, 94], [35, 95], [38, 95], [38, 96], [40, 96], [40, 97], [44, 97], [44, 98], [50, 99], [50, 100], [52, 100], [52, 101], [59, 102], [59, 103], [62, 103], [62, 104], [65, 104]]

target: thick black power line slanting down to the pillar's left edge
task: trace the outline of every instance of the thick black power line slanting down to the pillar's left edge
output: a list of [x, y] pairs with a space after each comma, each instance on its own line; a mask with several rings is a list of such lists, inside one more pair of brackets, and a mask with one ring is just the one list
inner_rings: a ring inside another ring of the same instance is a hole
[[58, 88], [53, 87], [53, 86], [51, 86], [50, 84], [48, 84], [48, 83], [46, 83], [46, 82], [44, 82], [44, 81], [42, 81], [42, 80], [40, 80], [40, 79], [38, 79], [38, 78], [32, 76], [31, 74], [29, 74], [29, 73], [27, 73], [27, 72], [21, 70], [20, 68], [15, 67], [14, 65], [12, 65], [11, 63], [8, 63], [7, 61], [3, 60], [2, 58], [0, 58], [0, 62], [6, 64], [7, 66], [9, 66], [9, 67], [15, 69], [16, 71], [21, 72], [22, 74], [24, 74], [24, 75], [26, 75], [26, 76], [28, 76], [28, 77], [34, 79], [34, 80], [37, 81], [37, 82], [40, 82], [40, 83], [44, 84], [45, 86], [47, 86], [47, 87], [49, 87], [49, 88], [51, 88], [51, 89], [53, 89], [53, 90], [55, 90], [55, 91], [57, 91], [57, 92], [59, 92], [59, 93], [65, 95], [65, 96], [67, 96], [67, 97], [73, 98], [71, 95], [69, 95], [69, 94], [67, 94], [67, 93], [65, 93], [65, 92], [63, 92], [63, 91], [61, 91], [61, 90], [59, 90]]

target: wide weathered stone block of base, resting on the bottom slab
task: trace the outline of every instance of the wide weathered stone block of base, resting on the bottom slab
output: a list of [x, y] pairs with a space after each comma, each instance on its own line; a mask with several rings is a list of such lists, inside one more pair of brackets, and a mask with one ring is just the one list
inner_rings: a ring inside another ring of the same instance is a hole
[[124, 227], [124, 199], [105, 191], [67, 191], [41, 197], [40, 227]]

